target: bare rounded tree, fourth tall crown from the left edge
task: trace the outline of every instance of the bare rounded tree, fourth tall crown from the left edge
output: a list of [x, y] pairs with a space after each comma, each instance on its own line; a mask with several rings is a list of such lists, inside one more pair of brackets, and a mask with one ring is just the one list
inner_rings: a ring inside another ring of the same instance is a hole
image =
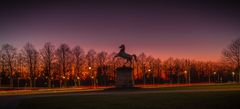
[[[67, 85], [66, 78], [69, 79], [71, 71], [71, 49], [67, 44], [61, 44], [56, 51], [57, 61], [60, 65], [60, 76], [64, 80], [64, 85]], [[61, 79], [60, 79], [61, 80]], [[61, 81], [60, 81], [61, 84]]]

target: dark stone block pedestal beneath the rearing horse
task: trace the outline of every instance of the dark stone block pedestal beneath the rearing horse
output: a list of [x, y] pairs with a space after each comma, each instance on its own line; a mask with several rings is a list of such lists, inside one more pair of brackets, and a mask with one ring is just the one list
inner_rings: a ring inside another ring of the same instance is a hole
[[132, 88], [134, 86], [133, 69], [131, 67], [119, 67], [116, 69], [116, 88]]

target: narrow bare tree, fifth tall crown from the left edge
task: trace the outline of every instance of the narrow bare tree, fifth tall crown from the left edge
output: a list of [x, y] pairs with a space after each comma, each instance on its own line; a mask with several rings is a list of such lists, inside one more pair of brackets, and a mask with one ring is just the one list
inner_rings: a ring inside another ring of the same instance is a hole
[[76, 82], [78, 81], [78, 85], [80, 85], [80, 79], [82, 75], [83, 65], [84, 65], [84, 50], [80, 46], [76, 46], [73, 50], [73, 62], [74, 62], [74, 83], [76, 86]]

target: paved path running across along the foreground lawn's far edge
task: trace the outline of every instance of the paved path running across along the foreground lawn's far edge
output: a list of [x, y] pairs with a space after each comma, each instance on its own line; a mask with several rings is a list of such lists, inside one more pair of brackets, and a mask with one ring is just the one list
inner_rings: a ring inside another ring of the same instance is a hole
[[119, 95], [119, 94], [153, 94], [153, 93], [191, 93], [191, 92], [226, 92], [240, 91], [240, 88], [232, 89], [194, 89], [194, 90], [151, 90], [151, 91], [102, 91], [102, 92], [80, 92], [65, 94], [41, 94], [41, 95], [15, 95], [1, 96], [0, 109], [16, 109], [21, 100], [35, 97], [54, 97], [54, 96], [79, 96], [79, 95]]

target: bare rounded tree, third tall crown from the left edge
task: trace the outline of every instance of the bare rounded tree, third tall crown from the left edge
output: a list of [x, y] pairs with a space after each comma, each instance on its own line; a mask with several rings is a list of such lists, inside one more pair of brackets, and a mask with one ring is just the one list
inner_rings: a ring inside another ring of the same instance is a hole
[[40, 50], [45, 76], [48, 79], [48, 87], [51, 87], [52, 69], [55, 60], [54, 52], [55, 47], [50, 42], [45, 43], [44, 47]]

